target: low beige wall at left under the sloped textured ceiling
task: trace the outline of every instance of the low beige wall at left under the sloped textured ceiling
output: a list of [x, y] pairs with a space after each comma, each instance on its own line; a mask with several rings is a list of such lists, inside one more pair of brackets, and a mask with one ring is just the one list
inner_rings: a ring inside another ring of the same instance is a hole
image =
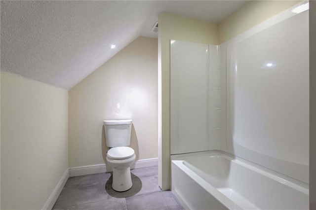
[[41, 209], [68, 169], [68, 91], [1, 72], [1, 209]]

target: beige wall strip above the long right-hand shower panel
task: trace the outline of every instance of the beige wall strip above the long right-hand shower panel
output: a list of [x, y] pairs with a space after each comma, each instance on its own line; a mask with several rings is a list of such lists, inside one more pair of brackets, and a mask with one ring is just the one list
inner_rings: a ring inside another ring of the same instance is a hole
[[299, 3], [297, 0], [251, 0], [218, 24], [219, 43], [228, 41]]

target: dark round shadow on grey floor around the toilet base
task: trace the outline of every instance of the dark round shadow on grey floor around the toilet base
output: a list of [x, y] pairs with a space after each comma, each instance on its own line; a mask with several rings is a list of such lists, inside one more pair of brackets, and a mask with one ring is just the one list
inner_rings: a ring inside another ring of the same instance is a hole
[[110, 178], [105, 184], [105, 191], [111, 197], [114, 197], [114, 198], [127, 198], [133, 195], [136, 195], [142, 189], [142, 181], [140, 180], [138, 176], [133, 175], [132, 173], [131, 173], [131, 177], [132, 177], [133, 186], [129, 190], [126, 190], [124, 192], [118, 192], [112, 189], [113, 173], [111, 173]]

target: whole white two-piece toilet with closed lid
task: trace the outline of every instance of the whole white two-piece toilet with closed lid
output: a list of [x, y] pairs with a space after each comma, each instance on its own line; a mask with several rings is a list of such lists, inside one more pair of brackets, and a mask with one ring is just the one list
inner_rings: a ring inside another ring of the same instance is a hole
[[113, 169], [112, 188], [123, 192], [129, 190], [133, 183], [130, 175], [130, 166], [136, 159], [135, 152], [128, 147], [132, 120], [104, 120], [106, 144], [110, 148], [107, 161]]

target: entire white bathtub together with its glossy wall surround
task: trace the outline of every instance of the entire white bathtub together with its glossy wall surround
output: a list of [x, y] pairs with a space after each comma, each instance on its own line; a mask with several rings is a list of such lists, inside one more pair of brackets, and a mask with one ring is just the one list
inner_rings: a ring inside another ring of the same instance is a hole
[[171, 40], [172, 191], [187, 209], [309, 209], [309, 19], [295, 7], [219, 46]]

